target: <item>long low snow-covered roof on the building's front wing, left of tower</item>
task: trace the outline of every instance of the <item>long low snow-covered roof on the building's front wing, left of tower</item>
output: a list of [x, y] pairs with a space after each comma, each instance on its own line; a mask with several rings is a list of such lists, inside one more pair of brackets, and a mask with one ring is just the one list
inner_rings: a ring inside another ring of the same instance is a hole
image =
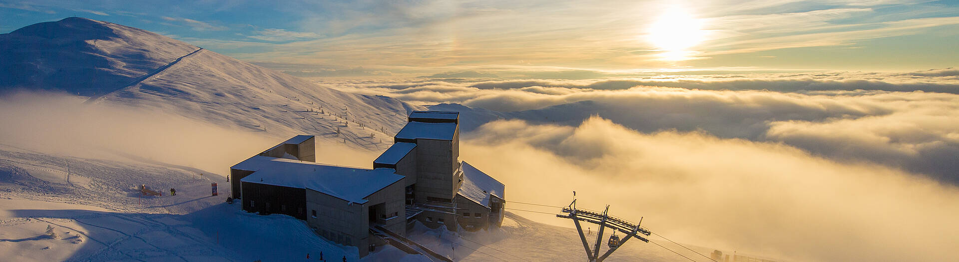
[[365, 203], [363, 198], [406, 178], [387, 168], [370, 170], [263, 155], [250, 157], [233, 168], [255, 171], [241, 179], [244, 182], [311, 189], [357, 203]]

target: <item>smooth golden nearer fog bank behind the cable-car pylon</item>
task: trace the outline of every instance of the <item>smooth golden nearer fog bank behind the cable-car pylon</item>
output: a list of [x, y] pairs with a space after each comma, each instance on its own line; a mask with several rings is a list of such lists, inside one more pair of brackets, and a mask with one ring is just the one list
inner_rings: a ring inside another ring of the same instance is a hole
[[959, 245], [955, 186], [784, 144], [638, 132], [598, 117], [575, 127], [496, 121], [463, 141], [461, 158], [507, 184], [514, 202], [565, 205], [575, 190], [578, 207], [611, 204], [683, 243], [796, 261], [943, 261]]

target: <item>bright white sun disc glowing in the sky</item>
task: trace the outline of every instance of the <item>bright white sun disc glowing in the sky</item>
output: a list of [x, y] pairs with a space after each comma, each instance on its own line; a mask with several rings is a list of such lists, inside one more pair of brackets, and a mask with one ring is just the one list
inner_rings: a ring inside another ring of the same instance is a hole
[[663, 60], [690, 60], [696, 54], [690, 48], [705, 38], [702, 24], [689, 12], [670, 9], [649, 26], [646, 40], [663, 51]]

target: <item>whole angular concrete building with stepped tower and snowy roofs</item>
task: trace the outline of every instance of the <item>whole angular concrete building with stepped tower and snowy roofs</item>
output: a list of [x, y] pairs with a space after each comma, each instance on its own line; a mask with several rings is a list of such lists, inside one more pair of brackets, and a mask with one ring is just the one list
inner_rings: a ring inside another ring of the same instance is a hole
[[505, 186], [459, 161], [459, 114], [413, 111], [372, 169], [316, 163], [312, 135], [297, 135], [230, 168], [232, 197], [261, 214], [305, 220], [339, 244], [383, 245], [370, 227], [406, 235], [416, 221], [449, 230], [503, 224]]

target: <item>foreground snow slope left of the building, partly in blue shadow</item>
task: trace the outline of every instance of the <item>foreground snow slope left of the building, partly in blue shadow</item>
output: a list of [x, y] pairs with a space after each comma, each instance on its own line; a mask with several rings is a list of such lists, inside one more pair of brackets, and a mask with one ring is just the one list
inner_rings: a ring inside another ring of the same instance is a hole
[[[213, 181], [197, 175], [0, 146], [0, 255], [11, 261], [291, 261], [323, 251], [358, 259], [356, 248], [327, 242], [292, 217], [246, 213], [223, 202], [229, 188], [222, 180], [216, 181], [222, 195], [211, 196]], [[143, 197], [138, 183], [164, 196]], [[168, 194], [171, 187], [176, 196]], [[46, 226], [59, 238], [45, 235]]]

